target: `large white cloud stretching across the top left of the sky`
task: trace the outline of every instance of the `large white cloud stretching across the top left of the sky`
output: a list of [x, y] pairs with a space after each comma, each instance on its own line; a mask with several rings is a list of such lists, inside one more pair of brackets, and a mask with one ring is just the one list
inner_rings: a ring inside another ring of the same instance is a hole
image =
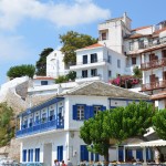
[[48, 20], [56, 27], [73, 27], [107, 19], [110, 11], [96, 6], [93, 0], [73, 2], [40, 0], [0, 0], [0, 29], [12, 30], [25, 19]]

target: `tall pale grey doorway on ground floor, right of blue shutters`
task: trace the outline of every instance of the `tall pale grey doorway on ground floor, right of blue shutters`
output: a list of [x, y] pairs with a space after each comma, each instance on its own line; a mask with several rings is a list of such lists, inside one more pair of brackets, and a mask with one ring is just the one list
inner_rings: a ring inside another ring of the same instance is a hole
[[44, 144], [43, 163], [46, 166], [52, 166], [52, 144]]

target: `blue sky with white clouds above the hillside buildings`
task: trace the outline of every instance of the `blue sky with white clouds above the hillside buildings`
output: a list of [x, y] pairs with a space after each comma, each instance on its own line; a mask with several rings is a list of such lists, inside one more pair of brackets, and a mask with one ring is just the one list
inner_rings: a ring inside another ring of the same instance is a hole
[[43, 49], [60, 49], [68, 31], [97, 38], [97, 24], [124, 12], [132, 28], [166, 20], [166, 0], [0, 0], [0, 85], [14, 65], [34, 64]]

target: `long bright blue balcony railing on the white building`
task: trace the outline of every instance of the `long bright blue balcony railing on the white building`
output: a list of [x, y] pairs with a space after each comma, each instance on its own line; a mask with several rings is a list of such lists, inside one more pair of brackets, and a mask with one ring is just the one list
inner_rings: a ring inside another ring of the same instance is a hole
[[25, 135], [31, 135], [34, 133], [41, 133], [45, 131], [51, 131], [51, 129], [59, 129], [59, 128], [64, 128], [64, 120], [63, 118], [44, 118], [40, 122], [35, 122], [34, 124], [29, 124], [29, 127], [27, 125], [23, 125], [20, 131], [17, 131], [17, 137], [22, 137]]

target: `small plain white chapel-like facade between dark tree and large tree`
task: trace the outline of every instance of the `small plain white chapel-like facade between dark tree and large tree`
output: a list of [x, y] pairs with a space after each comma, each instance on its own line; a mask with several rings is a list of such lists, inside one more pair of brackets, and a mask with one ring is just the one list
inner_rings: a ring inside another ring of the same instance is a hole
[[69, 66], [63, 62], [63, 56], [59, 50], [54, 50], [46, 56], [46, 76], [56, 79], [59, 75], [69, 73]]

